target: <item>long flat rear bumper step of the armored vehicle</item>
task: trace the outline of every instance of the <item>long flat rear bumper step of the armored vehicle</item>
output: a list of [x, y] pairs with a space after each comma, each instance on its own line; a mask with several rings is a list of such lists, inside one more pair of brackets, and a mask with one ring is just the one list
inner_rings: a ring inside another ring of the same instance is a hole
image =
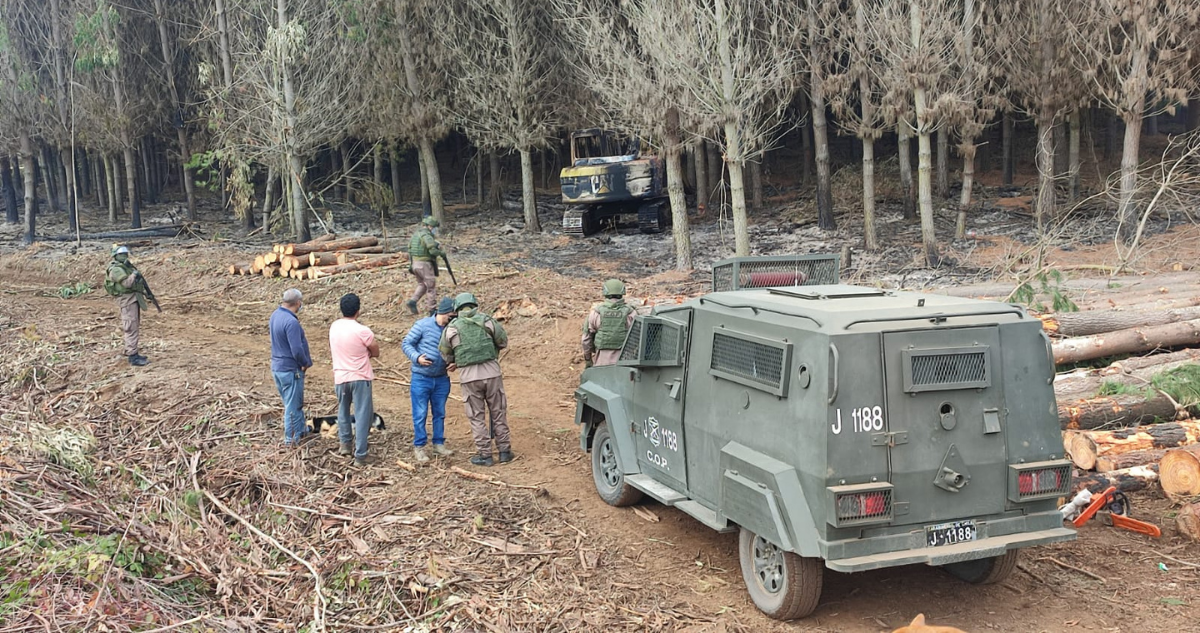
[[964, 562], [977, 559], [1000, 556], [1009, 549], [1044, 545], [1061, 541], [1073, 541], [1075, 530], [1069, 528], [1051, 528], [1033, 532], [1016, 532], [1003, 536], [992, 536], [967, 543], [953, 545], [926, 547], [919, 549], [904, 549], [900, 551], [887, 551], [881, 554], [869, 554], [851, 559], [827, 560], [826, 567], [836, 572], [865, 572], [882, 567], [895, 567], [899, 565], [913, 565], [924, 562], [926, 565], [949, 565], [952, 562]]

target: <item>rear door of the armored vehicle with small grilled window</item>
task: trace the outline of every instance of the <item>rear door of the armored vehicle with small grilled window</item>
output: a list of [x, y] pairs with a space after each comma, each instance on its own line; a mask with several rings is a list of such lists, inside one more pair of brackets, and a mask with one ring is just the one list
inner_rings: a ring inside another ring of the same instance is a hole
[[995, 326], [887, 332], [888, 446], [902, 523], [1004, 511], [1006, 411]]

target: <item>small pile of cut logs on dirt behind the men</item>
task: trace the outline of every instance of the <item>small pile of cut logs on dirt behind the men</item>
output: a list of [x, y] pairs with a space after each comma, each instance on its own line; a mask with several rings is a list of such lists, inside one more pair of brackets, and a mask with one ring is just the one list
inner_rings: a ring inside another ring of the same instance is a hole
[[252, 264], [232, 264], [229, 275], [262, 275], [293, 279], [322, 279], [347, 272], [361, 272], [407, 265], [403, 253], [384, 253], [378, 237], [322, 235], [302, 243], [278, 243]]

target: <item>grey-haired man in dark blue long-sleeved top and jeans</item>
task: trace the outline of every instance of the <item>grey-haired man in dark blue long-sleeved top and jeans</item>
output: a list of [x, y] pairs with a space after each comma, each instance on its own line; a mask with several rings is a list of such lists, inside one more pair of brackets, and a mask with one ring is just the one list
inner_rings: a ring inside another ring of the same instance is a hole
[[289, 288], [283, 291], [283, 302], [271, 313], [268, 328], [271, 333], [271, 375], [275, 376], [275, 388], [283, 399], [283, 444], [298, 446], [306, 438], [307, 428], [304, 416], [304, 376], [312, 367], [308, 355], [308, 338], [300, 326], [300, 308], [304, 303], [300, 290]]

